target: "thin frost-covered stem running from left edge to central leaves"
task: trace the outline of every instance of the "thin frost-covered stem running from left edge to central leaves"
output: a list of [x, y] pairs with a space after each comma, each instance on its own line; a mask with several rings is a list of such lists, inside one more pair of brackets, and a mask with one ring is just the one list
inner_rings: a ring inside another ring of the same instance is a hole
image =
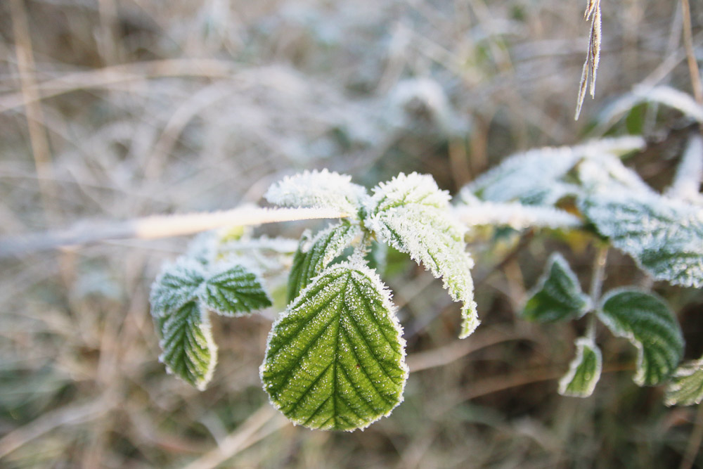
[[88, 245], [106, 240], [168, 238], [226, 226], [252, 226], [280, 221], [344, 218], [347, 216], [346, 213], [332, 209], [239, 207], [221, 212], [160, 215], [118, 223], [82, 223], [64, 231], [49, 231], [0, 239], [0, 259], [65, 246]]

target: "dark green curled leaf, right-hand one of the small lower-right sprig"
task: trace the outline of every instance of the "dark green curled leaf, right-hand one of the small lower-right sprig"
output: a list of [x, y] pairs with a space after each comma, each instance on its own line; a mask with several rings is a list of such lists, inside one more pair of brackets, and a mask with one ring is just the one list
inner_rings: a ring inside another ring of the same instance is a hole
[[635, 383], [652, 386], [671, 376], [683, 356], [683, 335], [664, 300], [636, 290], [614, 290], [596, 312], [614, 335], [637, 347]]

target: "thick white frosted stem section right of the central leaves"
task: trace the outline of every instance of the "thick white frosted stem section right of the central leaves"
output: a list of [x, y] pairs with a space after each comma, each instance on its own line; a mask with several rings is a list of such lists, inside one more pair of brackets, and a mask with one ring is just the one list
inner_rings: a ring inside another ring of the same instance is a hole
[[517, 202], [458, 205], [454, 213], [467, 226], [505, 225], [520, 230], [530, 226], [557, 229], [583, 225], [579, 217], [564, 210]]

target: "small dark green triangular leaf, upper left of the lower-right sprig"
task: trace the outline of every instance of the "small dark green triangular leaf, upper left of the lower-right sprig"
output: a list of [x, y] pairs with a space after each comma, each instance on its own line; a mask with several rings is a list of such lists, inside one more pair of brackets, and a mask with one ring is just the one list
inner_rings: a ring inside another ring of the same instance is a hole
[[553, 254], [544, 274], [522, 309], [528, 321], [564, 321], [583, 316], [591, 300], [581, 291], [579, 279], [559, 253]]

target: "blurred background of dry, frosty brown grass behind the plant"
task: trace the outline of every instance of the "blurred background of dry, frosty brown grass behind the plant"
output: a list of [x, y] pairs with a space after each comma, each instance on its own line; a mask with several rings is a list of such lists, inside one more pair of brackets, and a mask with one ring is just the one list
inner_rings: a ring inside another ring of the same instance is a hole
[[[428, 173], [454, 194], [510, 153], [604, 133], [659, 141], [636, 160], [656, 181], [676, 164], [680, 116], [633, 109], [607, 127], [599, 116], [640, 82], [690, 92], [681, 7], [603, 1], [596, 96], [574, 122], [585, 3], [2, 0], [0, 236], [262, 203], [273, 181], [323, 167], [368, 186]], [[692, 24], [701, 51], [697, 1]], [[296, 238], [319, 226], [257, 233]], [[439, 281], [390, 255], [384, 278], [413, 372], [392, 416], [354, 433], [294, 428], [269, 405], [258, 367], [273, 309], [213, 318], [219, 366], [205, 392], [165, 373], [148, 292], [187, 243], [123, 240], [1, 261], [0, 467], [696, 463], [703, 413], [667, 409], [661, 388], [634, 385], [626, 341], [601, 331], [593, 397], [560, 397], [583, 324], [516, 319], [554, 250], [588, 285], [593, 249], [579, 240], [477, 236], [484, 323], [464, 341]], [[606, 290], [642, 281], [628, 258], [610, 259]], [[655, 288], [679, 314], [687, 358], [698, 358], [703, 297]]]

